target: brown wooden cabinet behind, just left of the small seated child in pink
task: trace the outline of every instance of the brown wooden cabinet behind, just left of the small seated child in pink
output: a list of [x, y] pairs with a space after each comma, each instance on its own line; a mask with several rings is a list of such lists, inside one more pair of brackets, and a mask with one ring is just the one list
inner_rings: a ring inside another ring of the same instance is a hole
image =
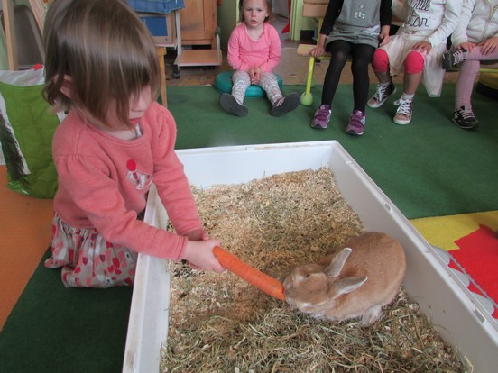
[[185, 0], [185, 8], [180, 10], [180, 30], [183, 45], [216, 48], [217, 0]]

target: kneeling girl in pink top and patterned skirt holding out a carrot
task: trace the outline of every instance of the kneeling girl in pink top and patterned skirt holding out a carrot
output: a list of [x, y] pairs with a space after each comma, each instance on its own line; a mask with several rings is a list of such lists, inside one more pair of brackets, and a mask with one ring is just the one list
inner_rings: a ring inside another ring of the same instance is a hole
[[[43, 94], [69, 112], [52, 143], [59, 189], [45, 267], [62, 268], [66, 287], [131, 286], [138, 252], [222, 272], [174, 151], [175, 121], [155, 102], [145, 25], [121, 0], [57, 0], [43, 36]], [[177, 233], [139, 218], [152, 181]]]

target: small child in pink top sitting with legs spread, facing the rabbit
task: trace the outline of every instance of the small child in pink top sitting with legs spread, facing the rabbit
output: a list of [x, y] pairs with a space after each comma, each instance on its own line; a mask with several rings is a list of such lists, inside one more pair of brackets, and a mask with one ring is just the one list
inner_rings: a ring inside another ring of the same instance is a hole
[[272, 103], [270, 114], [281, 116], [300, 105], [296, 93], [282, 96], [278, 80], [273, 74], [281, 60], [281, 41], [278, 32], [268, 23], [272, 18], [269, 0], [240, 0], [241, 24], [228, 41], [228, 63], [234, 68], [232, 94], [222, 94], [220, 105], [237, 116], [248, 114], [244, 106], [245, 91], [251, 85], [261, 86]]

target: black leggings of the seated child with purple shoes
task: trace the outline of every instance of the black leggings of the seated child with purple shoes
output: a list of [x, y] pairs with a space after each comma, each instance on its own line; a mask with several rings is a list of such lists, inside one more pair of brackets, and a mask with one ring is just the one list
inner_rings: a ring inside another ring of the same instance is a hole
[[332, 105], [341, 72], [346, 65], [347, 56], [351, 55], [355, 110], [364, 112], [370, 86], [368, 64], [372, 61], [375, 48], [368, 44], [332, 41], [328, 44], [327, 49], [330, 51], [330, 64], [323, 83], [322, 104]]

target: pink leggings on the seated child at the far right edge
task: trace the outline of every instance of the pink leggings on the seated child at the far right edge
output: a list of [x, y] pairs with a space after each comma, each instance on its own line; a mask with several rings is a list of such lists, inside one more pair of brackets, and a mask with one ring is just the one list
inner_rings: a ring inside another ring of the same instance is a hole
[[467, 55], [467, 59], [460, 66], [458, 73], [457, 86], [455, 92], [455, 107], [461, 106], [472, 107], [470, 100], [474, 89], [475, 77], [479, 72], [481, 61], [498, 59], [498, 50], [489, 54], [482, 54], [480, 46], [475, 46]]

